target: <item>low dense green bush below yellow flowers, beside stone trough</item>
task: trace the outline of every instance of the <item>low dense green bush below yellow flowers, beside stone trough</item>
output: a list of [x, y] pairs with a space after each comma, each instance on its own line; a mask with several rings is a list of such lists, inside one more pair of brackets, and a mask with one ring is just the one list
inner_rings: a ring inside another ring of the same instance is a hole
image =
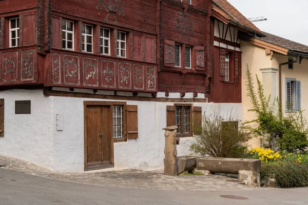
[[308, 168], [296, 162], [262, 163], [260, 178], [275, 174], [276, 185], [279, 188], [307, 187]]

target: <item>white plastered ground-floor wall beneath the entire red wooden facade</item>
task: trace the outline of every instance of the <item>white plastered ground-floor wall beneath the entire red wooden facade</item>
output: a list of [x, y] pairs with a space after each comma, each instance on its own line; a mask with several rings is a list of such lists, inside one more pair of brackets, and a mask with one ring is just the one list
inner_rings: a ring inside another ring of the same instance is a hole
[[[92, 98], [45, 97], [42, 90], [0, 92], [5, 98], [5, 137], [0, 138], [0, 154], [21, 158], [57, 172], [84, 171], [84, 101], [116, 101]], [[31, 115], [15, 115], [14, 100], [31, 99]], [[121, 100], [117, 100], [121, 101]], [[114, 169], [150, 170], [163, 168], [166, 106], [174, 103], [123, 100], [138, 106], [139, 138], [114, 143]], [[242, 104], [194, 103], [202, 112], [211, 113], [220, 106], [226, 117], [236, 113], [243, 119]], [[63, 114], [64, 129], [56, 130], [56, 114]], [[16, 121], [18, 124], [12, 125]], [[193, 137], [181, 138], [178, 156], [189, 154]]]

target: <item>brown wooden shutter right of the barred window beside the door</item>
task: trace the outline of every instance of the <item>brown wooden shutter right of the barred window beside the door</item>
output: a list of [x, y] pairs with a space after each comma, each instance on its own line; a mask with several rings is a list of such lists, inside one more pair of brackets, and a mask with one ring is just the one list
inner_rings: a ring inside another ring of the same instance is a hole
[[127, 139], [138, 138], [138, 106], [126, 105]]

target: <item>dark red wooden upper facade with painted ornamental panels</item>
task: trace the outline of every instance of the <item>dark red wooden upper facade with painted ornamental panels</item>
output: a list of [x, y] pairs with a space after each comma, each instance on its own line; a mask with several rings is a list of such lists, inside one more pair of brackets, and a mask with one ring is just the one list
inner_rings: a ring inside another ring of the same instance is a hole
[[[219, 80], [211, 1], [29, 0], [0, 2], [0, 86], [31, 85], [133, 92], [204, 93], [240, 103], [238, 83]], [[9, 48], [9, 19], [20, 18], [20, 42]], [[74, 25], [74, 50], [62, 49], [62, 20]], [[82, 24], [93, 28], [93, 52], [82, 52]], [[110, 55], [100, 54], [100, 28], [110, 29]], [[126, 57], [117, 55], [117, 31]], [[175, 45], [191, 48], [190, 68], [175, 66]], [[213, 55], [213, 56], [212, 56]], [[240, 59], [240, 56], [239, 56]], [[10, 86], [10, 87], [9, 87]]]

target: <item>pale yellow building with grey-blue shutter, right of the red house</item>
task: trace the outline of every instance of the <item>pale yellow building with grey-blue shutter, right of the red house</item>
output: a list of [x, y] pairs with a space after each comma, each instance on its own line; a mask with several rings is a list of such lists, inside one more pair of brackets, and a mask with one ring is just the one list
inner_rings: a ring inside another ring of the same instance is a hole
[[[284, 112], [303, 112], [308, 119], [308, 46], [265, 33], [266, 37], [242, 36], [242, 103], [244, 120], [255, 119], [256, 115], [247, 97], [246, 65], [261, 80], [266, 96], [280, 98]], [[256, 80], [255, 80], [256, 82]], [[257, 89], [257, 85], [255, 85]], [[257, 147], [260, 140], [251, 145]]]

